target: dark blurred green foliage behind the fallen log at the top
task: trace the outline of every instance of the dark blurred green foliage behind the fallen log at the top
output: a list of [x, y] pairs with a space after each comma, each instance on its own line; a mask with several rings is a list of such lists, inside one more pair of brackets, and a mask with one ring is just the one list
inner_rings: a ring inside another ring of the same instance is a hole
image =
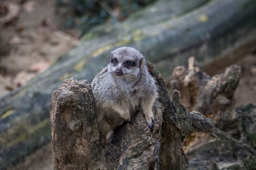
[[122, 21], [134, 11], [156, 0], [56, 0], [57, 8], [65, 9], [65, 27], [79, 27], [81, 34], [93, 26]]

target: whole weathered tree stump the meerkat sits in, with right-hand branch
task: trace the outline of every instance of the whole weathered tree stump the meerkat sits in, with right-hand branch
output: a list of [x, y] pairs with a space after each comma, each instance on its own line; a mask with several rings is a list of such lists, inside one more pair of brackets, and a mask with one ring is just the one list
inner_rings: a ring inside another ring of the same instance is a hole
[[[142, 153], [157, 144], [154, 153], [157, 169], [185, 169], [186, 157], [181, 141], [195, 131], [209, 132], [212, 122], [200, 113], [189, 113], [175, 92], [174, 104], [168, 97], [161, 74], [148, 62], [150, 73], [159, 87], [154, 104], [156, 124], [150, 132], [141, 111], [115, 129], [106, 155], [102, 153], [96, 124], [92, 89], [86, 81], [65, 80], [52, 94], [51, 127], [54, 169], [148, 169]], [[163, 117], [162, 117], [163, 115]], [[159, 131], [159, 141], [152, 138]], [[106, 160], [106, 162], [105, 162]]]

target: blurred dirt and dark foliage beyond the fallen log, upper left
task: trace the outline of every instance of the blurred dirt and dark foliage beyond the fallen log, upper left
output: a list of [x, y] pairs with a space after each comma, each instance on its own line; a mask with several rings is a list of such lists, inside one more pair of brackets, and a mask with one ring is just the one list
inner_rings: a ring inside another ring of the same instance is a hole
[[115, 24], [145, 1], [1, 1], [0, 94], [24, 85], [99, 24]]

